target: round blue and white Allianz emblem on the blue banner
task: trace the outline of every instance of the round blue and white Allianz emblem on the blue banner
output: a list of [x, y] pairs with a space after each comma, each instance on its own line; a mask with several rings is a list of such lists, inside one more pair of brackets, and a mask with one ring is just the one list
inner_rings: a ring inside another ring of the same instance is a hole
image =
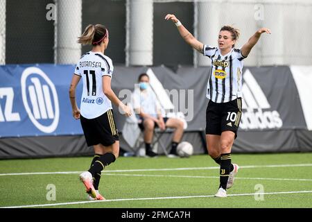
[[32, 123], [44, 133], [58, 127], [60, 107], [55, 85], [37, 67], [29, 67], [21, 74], [21, 96]]

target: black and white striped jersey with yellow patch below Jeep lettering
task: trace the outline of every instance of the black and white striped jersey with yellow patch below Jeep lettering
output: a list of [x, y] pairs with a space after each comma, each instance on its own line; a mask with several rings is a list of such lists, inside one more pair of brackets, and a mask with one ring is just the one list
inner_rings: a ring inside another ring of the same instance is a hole
[[211, 70], [206, 96], [215, 103], [227, 103], [242, 97], [243, 59], [241, 49], [232, 49], [221, 55], [218, 47], [204, 45], [204, 56], [211, 59]]

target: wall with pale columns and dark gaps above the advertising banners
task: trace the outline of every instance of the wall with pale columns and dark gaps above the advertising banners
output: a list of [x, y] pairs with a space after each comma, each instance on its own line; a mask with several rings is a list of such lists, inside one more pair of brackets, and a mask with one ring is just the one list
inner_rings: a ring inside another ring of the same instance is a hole
[[[58, 2], [67, 6], [64, 8], [70, 8], [73, 1]], [[70, 36], [73, 39], [78, 37], [78, 28], [74, 28], [74, 31], [72, 28], [64, 28], [62, 31], [55, 21], [55, 17], [58, 17], [59, 23], [81, 24], [80, 33], [88, 24], [105, 24], [110, 30], [110, 46], [105, 53], [112, 58], [115, 65], [125, 65], [125, 55], [131, 48], [130, 42], [127, 43], [127, 36], [135, 36], [135, 30], [127, 25], [132, 24], [130, 18], [136, 16], [126, 16], [127, 6], [129, 7], [131, 2], [134, 5], [138, 2], [144, 3], [130, 0], [81, 0], [82, 13], [79, 8], [81, 18], [78, 19], [76, 15], [70, 14], [77, 14], [76, 8], [62, 14], [62, 10], [53, 12], [50, 7], [55, 4], [55, 0], [1, 1], [1, 64], [57, 63], [58, 60], [54, 57], [73, 58], [71, 53], [60, 52], [64, 46], [58, 44], [58, 41], [68, 42], [68, 39], [63, 40], [62, 36]], [[237, 47], [243, 46], [258, 28], [268, 27], [272, 35], [261, 37], [245, 65], [311, 65], [311, 11], [311, 0], [154, 0], [153, 24], [150, 24], [153, 26], [153, 32], [146, 32], [146, 35], [141, 37], [153, 42], [154, 66], [201, 66], [209, 65], [209, 60], [202, 58], [198, 52], [194, 52], [185, 44], [175, 25], [164, 20], [166, 13], [177, 15], [198, 40], [211, 45], [217, 44], [218, 30], [225, 24], [240, 29]], [[59, 15], [56, 16], [57, 14]], [[137, 18], [134, 20], [140, 21]], [[68, 51], [74, 42], [76, 40], [68, 42]], [[82, 47], [82, 53], [85, 51], [89, 51], [88, 46]], [[145, 58], [141, 58], [140, 65], [144, 65], [144, 60]]]

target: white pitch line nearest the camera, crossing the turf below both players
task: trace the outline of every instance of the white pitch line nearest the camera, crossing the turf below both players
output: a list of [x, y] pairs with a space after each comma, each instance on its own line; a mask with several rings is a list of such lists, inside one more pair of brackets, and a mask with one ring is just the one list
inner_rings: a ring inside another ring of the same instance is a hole
[[[312, 193], [312, 190], [269, 192], [269, 193], [253, 193], [253, 194], [227, 194], [227, 196], [253, 196], [253, 195], [268, 195], [268, 194], [302, 194], [302, 193]], [[48, 203], [48, 204], [40, 204], [40, 205], [21, 205], [21, 206], [8, 206], [8, 207], [0, 207], [0, 208], [51, 207], [51, 206], [59, 206], [59, 205], [76, 205], [76, 204], [84, 204], [84, 203], [116, 202], [116, 201], [129, 201], [129, 200], [165, 200], [165, 199], [207, 198], [207, 197], [214, 197], [214, 195], [164, 196], [164, 197], [125, 198], [125, 199], [92, 200], [92, 201], [88, 200], [88, 201], [80, 201], [80, 202]]]

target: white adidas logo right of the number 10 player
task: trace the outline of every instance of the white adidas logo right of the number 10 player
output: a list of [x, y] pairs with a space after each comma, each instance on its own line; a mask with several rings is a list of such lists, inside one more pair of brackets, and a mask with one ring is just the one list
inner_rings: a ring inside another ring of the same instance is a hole
[[277, 110], [270, 110], [266, 95], [249, 69], [245, 71], [243, 80], [243, 114], [239, 127], [243, 130], [281, 128], [283, 121], [279, 113]]

